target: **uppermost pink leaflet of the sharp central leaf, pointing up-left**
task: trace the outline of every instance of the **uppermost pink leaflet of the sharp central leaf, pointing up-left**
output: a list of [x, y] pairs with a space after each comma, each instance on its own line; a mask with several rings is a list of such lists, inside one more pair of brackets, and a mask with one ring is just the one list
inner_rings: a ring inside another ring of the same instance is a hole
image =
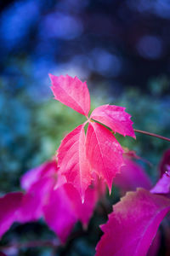
[[73, 108], [79, 113], [88, 116], [90, 110], [90, 96], [86, 82], [69, 75], [59, 77], [49, 74], [52, 82], [51, 89], [55, 100], [62, 102], [66, 106]]

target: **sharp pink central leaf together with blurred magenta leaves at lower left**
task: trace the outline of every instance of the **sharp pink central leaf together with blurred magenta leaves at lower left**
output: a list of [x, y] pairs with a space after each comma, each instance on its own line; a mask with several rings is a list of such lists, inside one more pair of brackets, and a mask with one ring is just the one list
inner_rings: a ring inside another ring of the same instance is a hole
[[[79, 79], [50, 75], [55, 99], [82, 113], [88, 119], [90, 96], [88, 86]], [[21, 180], [21, 192], [0, 199], [0, 236], [14, 221], [26, 223], [43, 217], [61, 241], [80, 220], [88, 224], [96, 201], [105, 193], [105, 182], [111, 190], [113, 177], [120, 172], [122, 147], [105, 126], [123, 136], [134, 136], [130, 115], [122, 107], [101, 106], [90, 118], [61, 142], [56, 160], [48, 161]], [[84, 126], [88, 123], [87, 135]], [[11, 204], [10, 201], [13, 201]]]

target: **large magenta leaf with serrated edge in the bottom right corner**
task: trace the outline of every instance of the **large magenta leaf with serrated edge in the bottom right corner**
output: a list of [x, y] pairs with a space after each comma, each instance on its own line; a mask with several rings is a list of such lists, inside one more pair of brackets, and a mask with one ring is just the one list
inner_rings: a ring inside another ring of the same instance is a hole
[[170, 200], [144, 189], [128, 192], [113, 207], [96, 256], [145, 256], [162, 219], [170, 211]]

